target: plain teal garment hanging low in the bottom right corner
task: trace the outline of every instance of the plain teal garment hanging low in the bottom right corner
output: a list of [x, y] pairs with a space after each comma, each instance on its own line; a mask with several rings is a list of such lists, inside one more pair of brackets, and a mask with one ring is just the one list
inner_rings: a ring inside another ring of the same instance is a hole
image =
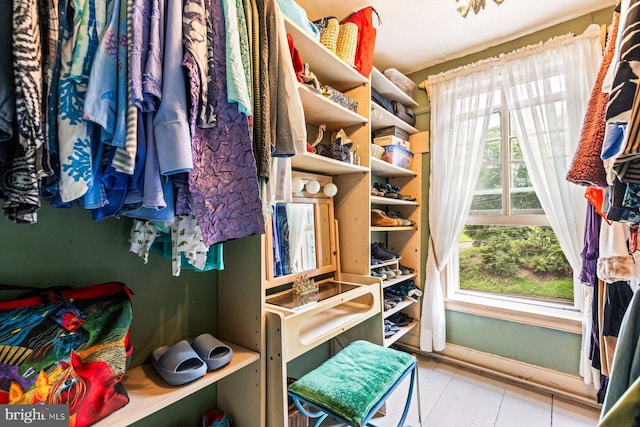
[[630, 426], [640, 409], [640, 295], [624, 314], [598, 426]]

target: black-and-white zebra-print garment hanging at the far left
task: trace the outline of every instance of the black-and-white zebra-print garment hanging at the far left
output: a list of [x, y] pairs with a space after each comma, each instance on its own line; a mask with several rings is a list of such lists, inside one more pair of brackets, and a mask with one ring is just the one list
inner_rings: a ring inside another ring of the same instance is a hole
[[45, 143], [42, 114], [42, 48], [37, 0], [13, 2], [13, 68], [18, 138], [2, 174], [5, 214], [35, 223], [40, 207], [37, 153]]

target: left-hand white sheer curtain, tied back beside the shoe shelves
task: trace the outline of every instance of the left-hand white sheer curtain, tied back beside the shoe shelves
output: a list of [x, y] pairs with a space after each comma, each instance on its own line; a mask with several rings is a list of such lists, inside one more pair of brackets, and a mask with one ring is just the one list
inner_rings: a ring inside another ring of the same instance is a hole
[[429, 254], [427, 257], [420, 349], [445, 346], [441, 277], [471, 206], [489, 126], [496, 69], [490, 63], [432, 76]]

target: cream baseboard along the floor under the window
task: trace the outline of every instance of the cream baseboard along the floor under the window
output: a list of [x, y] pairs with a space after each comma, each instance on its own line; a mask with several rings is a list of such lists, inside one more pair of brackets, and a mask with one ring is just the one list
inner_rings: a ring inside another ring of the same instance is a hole
[[601, 407], [597, 403], [596, 390], [593, 385], [585, 384], [582, 378], [577, 375], [449, 343], [444, 351], [433, 353], [422, 352], [417, 346], [402, 343], [399, 343], [399, 346], [438, 361], [477, 371], [483, 375], [497, 377], [503, 381], [536, 391], [550, 393], [565, 400], [597, 409]]

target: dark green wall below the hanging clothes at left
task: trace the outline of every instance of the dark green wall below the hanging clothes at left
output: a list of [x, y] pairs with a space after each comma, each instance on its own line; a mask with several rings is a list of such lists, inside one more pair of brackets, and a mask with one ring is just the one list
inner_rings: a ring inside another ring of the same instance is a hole
[[[161, 345], [216, 333], [215, 271], [183, 270], [180, 277], [173, 277], [170, 260], [152, 253], [145, 265], [129, 252], [131, 219], [95, 222], [83, 209], [55, 209], [48, 201], [43, 203], [37, 224], [0, 218], [0, 283], [38, 287], [126, 283], [134, 292], [132, 366], [143, 363]], [[195, 420], [211, 407], [215, 407], [215, 385], [138, 424], [196, 425]]]

